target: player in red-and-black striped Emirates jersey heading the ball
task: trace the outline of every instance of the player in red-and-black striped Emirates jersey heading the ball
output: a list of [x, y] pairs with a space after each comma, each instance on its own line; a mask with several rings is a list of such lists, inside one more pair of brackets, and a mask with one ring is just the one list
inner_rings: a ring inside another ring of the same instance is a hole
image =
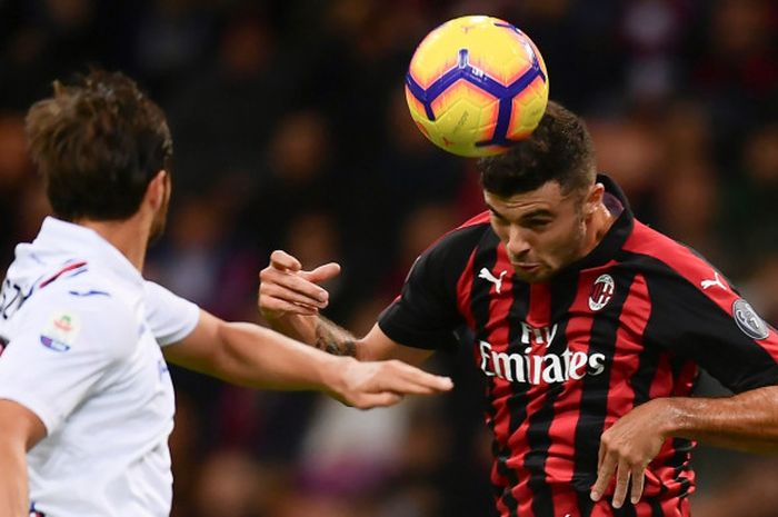
[[[318, 315], [337, 275], [275, 251], [260, 309], [360, 360], [473, 350], [501, 516], [680, 517], [692, 440], [778, 449], [778, 336], [712, 266], [635, 220], [584, 122], [550, 102], [479, 161], [488, 210], [442, 236], [363, 338]], [[737, 395], [690, 398], [698, 368]]]

